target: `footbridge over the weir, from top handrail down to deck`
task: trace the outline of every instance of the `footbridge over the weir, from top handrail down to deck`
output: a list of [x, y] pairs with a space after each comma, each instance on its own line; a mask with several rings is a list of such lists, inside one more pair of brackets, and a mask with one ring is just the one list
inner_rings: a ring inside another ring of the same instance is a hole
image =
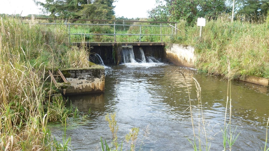
[[[73, 45], [164, 45], [165, 40], [169, 39], [169, 36], [177, 33], [176, 22], [85, 21], [88, 24], [66, 24], [68, 26], [69, 40]], [[84, 30], [76, 30], [78, 28]]]

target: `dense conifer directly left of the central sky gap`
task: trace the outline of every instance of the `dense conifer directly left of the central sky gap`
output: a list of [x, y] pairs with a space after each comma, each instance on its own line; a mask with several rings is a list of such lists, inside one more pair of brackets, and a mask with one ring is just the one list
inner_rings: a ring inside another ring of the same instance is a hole
[[83, 4], [77, 14], [81, 19], [114, 19], [114, 0], [95, 0], [91, 4]]

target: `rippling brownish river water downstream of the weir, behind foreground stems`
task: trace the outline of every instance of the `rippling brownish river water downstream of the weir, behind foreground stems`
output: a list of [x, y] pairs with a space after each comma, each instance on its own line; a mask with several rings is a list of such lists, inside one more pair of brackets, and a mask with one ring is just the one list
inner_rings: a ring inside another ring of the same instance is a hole
[[[118, 140], [125, 140], [129, 129], [139, 127], [136, 150], [192, 151], [192, 122], [189, 110], [188, 89], [192, 104], [195, 132], [198, 134], [198, 100], [192, 77], [201, 86], [202, 109], [210, 150], [223, 150], [221, 128], [224, 125], [228, 80], [194, 69], [165, 63], [126, 63], [105, 68], [105, 93], [70, 96], [68, 100], [80, 112], [87, 114], [86, 123], [70, 126], [66, 135], [71, 137], [71, 149], [76, 151], [101, 150], [100, 137], [110, 144], [112, 135], [105, 121], [107, 113], [116, 112], [119, 126]], [[258, 151], [264, 147], [266, 124], [269, 116], [269, 90], [266, 87], [231, 81], [231, 127], [239, 134], [233, 150]], [[229, 112], [229, 111], [228, 111]], [[227, 115], [229, 116], [229, 115]], [[69, 125], [72, 125], [68, 121]], [[143, 129], [148, 135], [144, 137]], [[201, 127], [200, 127], [201, 128]], [[63, 131], [52, 127], [56, 137]], [[201, 141], [205, 145], [204, 134]], [[141, 142], [143, 139], [143, 142]], [[197, 139], [196, 139], [197, 140]], [[126, 142], [123, 141], [126, 150]], [[204, 146], [203, 146], [204, 148]], [[204, 150], [204, 149], [203, 149]]]

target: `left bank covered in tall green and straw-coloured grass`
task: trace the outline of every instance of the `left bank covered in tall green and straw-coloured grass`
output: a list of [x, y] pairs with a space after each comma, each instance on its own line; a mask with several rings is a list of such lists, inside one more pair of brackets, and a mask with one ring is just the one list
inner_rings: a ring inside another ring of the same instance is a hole
[[52, 86], [45, 75], [48, 68], [88, 67], [87, 52], [69, 47], [63, 25], [5, 16], [0, 24], [0, 150], [67, 150], [47, 122], [64, 123], [73, 111], [62, 97], [45, 99]]

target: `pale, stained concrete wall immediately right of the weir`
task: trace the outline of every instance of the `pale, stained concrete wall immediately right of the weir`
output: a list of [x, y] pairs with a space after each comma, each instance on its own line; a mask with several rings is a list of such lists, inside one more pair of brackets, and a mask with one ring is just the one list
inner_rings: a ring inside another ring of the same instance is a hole
[[171, 44], [165, 50], [166, 59], [175, 65], [195, 68], [194, 48], [187, 45]]

